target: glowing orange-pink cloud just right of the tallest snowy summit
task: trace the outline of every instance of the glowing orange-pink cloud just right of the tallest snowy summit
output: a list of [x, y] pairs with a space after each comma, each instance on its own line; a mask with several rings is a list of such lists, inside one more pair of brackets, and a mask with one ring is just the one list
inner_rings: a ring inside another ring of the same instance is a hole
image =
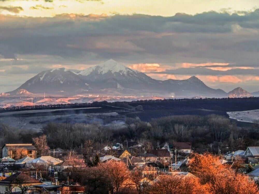
[[139, 63], [128, 65], [128, 67], [141, 72], [161, 72], [171, 68], [170, 66], [162, 66], [158, 63]]

